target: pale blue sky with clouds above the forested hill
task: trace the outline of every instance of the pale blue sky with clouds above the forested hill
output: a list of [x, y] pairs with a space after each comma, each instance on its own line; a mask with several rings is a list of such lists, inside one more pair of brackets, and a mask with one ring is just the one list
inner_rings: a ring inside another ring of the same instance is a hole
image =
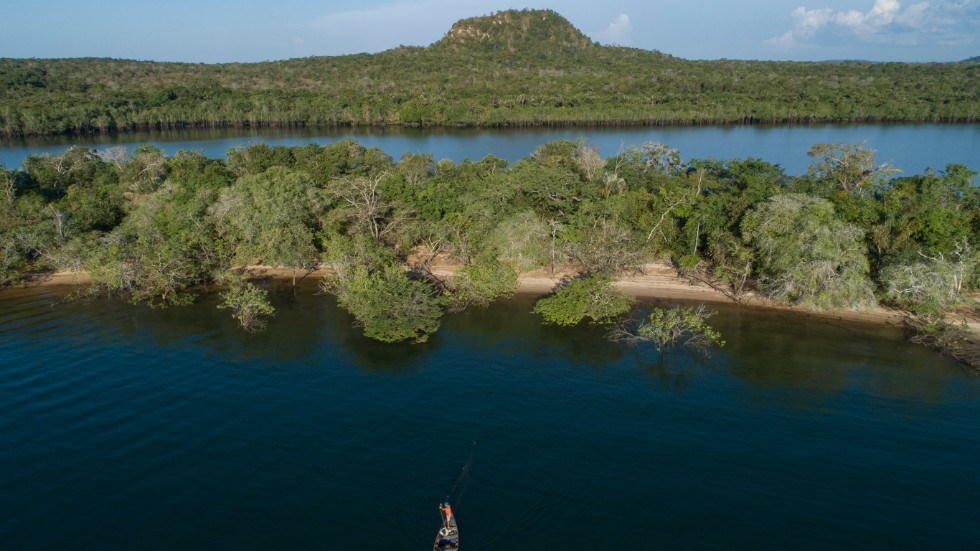
[[426, 46], [466, 17], [548, 8], [602, 44], [687, 59], [959, 61], [980, 0], [33, 0], [0, 8], [0, 57], [248, 62]]

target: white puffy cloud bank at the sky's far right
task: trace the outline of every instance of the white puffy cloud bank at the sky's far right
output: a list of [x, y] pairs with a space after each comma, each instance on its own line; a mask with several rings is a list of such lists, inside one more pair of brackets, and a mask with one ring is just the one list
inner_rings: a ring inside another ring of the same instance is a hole
[[799, 7], [790, 14], [793, 28], [766, 41], [791, 48], [817, 42], [828, 34], [859, 42], [915, 45], [974, 41], [980, 23], [976, 0], [919, 2], [902, 8], [898, 0], [875, 0], [867, 11]]

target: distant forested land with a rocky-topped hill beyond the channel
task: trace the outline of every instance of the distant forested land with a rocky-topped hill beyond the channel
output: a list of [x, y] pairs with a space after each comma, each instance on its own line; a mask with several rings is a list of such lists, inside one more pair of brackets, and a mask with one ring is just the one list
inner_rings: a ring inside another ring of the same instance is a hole
[[184, 126], [980, 120], [972, 63], [690, 61], [601, 46], [552, 11], [428, 47], [247, 64], [0, 59], [0, 135]]

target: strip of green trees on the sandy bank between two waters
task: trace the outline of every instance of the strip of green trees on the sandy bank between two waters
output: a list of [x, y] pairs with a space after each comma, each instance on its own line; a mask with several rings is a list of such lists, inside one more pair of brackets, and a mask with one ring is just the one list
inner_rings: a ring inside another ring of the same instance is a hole
[[[602, 158], [556, 141], [514, 163], [396, 162], [351, 140], [247, 145], [225, 159], [72, 147], [0, 167], [0, 282], [85, 271], [88, 292], [155, 306], [217, 284], [223, 306], [256, 329], [272, 307], [242, 267], [326, 266], [324, 289], [366, 335], [422, 341], [444, 311], [485, 305], [514, 292], [520, 273], [556, 266], [580, 276], [539, 302], [546, 321], [618, 323], [632, 300], [611, 278], [666, 258], [735, 303], [752, 293], [810, 308], [897, 306], [916, 339], [970, 359], [949, 316], [980, 283], [976, 173], [898, 176], [850, 144], [810, 155], [809, 171], [790, 177], [758, 159], [685, 163], [655, 143]], [[456, 264], [452, 276], [429, 269], [437, 257]], [[676, 337], [659, 323], [719, 341], [694, 310], [655, 314], [613, 333]]]

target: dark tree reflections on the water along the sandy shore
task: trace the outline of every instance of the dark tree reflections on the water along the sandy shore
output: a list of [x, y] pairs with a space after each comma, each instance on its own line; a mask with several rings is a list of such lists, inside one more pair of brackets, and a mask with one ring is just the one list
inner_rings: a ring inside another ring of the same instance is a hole
[[[950, 371], [959, 370], [952, 360], [907, 343], [894, 327], [726, 305], [712, 306], [717, 315], [709, 321], [727, 341], [724, 348], [712, 350], [707, 358], [686, 350], [661, 355], [649, 345], [609, 342], [603, 327], [545, 325], [531, 313], [536, 297], [524, 295], [448, 314], [426, 343], [386, 344], [365, 337], [334, 297], [319, 292], [315, 280], [295, 287], [282, 281], [264, 285], [277, 313], [260, 333], [241, 331], [227, 310], [217, 308], [215, 292], [202, 294], [192, 306], [163, 309], [114, 299], [64, 302], [66, 290], [57, 288], [8, 292], [3, 298], [7, 305], [43, 301], [49, 315], [76, 316], [105, 338], [198, 347], [214, 357], [256, 366], [336, 358], [368, 372], [417, 372], [462, 337], [471, 348], [502, 357], [528, 356], [542, 366], [570, 362], [602, 371], [632, 359], [629, 363], [651, 380], [675, 390], [702, 374], [721, 371], [752, 388], [802, 389], [814, 399], [859, 387], [876, 396], [930, 403], [944, 399]], [[646, 301], [641, 307], [652, 304], [663, 303]]]

